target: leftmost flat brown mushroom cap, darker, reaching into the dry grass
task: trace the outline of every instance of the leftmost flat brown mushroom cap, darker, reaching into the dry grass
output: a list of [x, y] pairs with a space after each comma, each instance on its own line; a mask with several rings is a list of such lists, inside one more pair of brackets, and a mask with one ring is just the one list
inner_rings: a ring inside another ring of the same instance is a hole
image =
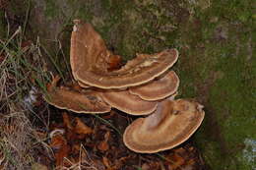
[[47, 96], [44, 97], [49, 104], [76, 113], [106, 113], [111, 110], [97, 91], [91, 89], [78, 91], [66, 86], [57, 87], [57, 81], [54, 80], [48, 86]]

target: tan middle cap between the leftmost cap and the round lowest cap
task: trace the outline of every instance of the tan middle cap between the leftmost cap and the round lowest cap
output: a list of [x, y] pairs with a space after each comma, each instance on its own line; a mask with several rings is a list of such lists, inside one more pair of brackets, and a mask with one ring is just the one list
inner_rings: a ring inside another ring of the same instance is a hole
[[156, 110], [158, 103], [146, 101], [126, 90], [105, 90], [101, 96], [112, 107], [131, 115], [148, 115]]

